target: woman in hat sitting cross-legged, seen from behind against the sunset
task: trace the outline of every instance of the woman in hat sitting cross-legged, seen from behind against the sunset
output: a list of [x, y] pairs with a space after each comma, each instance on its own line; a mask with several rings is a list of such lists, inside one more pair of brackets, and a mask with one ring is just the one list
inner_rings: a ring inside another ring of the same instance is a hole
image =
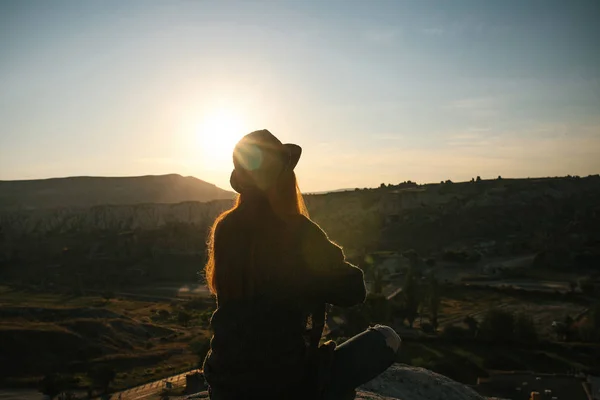
[[377, 325], [319, 346], [325, 304], [365, 299], [362, 271], [308, 218], [294, 167], [302, 149], [267, 130], [233, 152], [235, 206], [215, 221], [206, 280], [217, 297], [204, 376], [211, 398], [353, 399], [400, 347]]

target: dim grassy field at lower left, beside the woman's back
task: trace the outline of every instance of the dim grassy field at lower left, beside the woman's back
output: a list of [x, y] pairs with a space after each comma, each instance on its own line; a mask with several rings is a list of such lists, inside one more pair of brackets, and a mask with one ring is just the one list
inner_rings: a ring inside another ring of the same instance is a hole
[[[0, 384], [102, 392], [189, 370], [197, 366], [189, 344], [208, 335], [213, 307], [0, 287], [0, 353], [8, 360]], [[185, 329], [180, 313], [189, 316]]]

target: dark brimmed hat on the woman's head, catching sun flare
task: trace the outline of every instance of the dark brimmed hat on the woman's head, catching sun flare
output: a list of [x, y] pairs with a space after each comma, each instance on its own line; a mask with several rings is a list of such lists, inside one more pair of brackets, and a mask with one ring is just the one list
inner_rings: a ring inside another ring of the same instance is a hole
[[233, 150], [233, 166], [229, 182], [238, 193], [249, 189], [266, 190], [284, 171], [293, 170], [302, 154], [297, 144], [281, 143], [266, 129], [244, 136]]

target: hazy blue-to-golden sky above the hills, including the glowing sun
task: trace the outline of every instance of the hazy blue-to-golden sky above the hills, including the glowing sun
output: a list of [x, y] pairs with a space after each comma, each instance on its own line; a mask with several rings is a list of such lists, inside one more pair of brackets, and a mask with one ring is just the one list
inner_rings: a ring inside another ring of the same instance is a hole
[[269, 129], [304, 191], [600, 173], [600, 1], [0, 0], [0, 180], [225, 189]]

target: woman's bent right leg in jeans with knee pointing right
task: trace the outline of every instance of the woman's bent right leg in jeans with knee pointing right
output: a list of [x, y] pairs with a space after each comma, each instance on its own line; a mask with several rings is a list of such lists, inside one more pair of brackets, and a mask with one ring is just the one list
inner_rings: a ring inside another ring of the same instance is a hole
[[375, 325], [335, 349], [325, 400], [353, 399], [355, 389], [394, 363], [400, 336], [389, 326]]

